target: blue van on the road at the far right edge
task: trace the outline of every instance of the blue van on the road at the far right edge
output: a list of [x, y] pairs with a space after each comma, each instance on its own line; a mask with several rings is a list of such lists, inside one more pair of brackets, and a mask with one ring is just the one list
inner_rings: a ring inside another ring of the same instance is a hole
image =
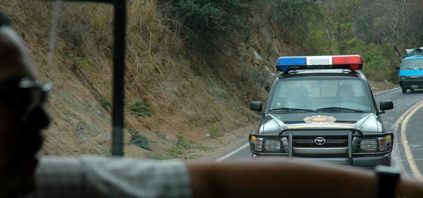
[[405, 50], [407, 54], [398, 66], [399, 83], [403, 94], [407, 90], [423, 89], [423, 47]]

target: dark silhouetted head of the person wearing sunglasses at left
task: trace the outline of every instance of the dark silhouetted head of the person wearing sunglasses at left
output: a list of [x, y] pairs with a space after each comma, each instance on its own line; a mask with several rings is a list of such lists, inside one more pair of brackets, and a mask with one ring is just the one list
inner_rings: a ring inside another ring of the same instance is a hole
[[27, 192], [34, 183], [41, 129], [50, 122], [43, 88], [25, 44], [0, 13], [0, 197]]

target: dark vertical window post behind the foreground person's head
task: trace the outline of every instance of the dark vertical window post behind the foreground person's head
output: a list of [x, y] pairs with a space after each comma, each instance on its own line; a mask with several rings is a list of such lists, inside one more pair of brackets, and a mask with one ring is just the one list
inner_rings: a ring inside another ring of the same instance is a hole
[[126, 0], [114, 0], [114, 75], [112, 155], [123, 155], [125, 102]]

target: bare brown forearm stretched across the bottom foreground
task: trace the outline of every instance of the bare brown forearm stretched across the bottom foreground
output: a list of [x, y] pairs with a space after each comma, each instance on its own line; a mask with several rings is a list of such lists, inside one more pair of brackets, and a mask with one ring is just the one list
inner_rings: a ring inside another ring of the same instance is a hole
[[[371, 170], [297, 160], [188, 164], [194, 197], [371, 197]], [[395, 197], [423, 197], [423, 183], [400, 178]]]

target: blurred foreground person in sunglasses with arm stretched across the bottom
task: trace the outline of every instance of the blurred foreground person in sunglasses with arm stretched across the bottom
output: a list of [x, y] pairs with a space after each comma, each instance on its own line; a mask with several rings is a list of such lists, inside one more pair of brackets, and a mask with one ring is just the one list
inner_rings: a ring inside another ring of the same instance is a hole
[[374, 171], [300, 160], [36, 157], [50, 122], [44, 108], [49, 87], [36, 81], [6, 17], [0, 25], [0, 197], [423, 197], [419, 181], [389, 183]]

